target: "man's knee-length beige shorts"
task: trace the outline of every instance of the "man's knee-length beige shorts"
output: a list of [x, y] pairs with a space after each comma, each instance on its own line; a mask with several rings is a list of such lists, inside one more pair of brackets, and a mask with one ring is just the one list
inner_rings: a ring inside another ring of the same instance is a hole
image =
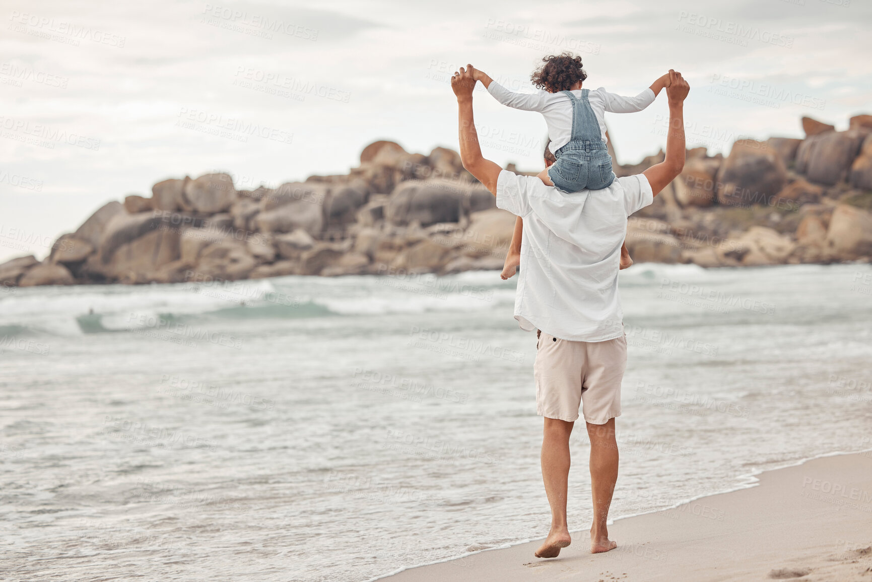
[[621, 380], [627, 367], [627, 339], [570, 341], [542, 332], [533, 375], [536, 412], [573, 422], [605, 424], [621, 415]]

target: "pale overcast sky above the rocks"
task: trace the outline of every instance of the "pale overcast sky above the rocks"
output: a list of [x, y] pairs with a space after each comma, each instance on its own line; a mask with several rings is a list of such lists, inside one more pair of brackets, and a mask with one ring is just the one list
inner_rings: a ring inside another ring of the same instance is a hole
[[[847, 4], [847, 5], [845, 5]], [[43, 257], [92, 211], [155, 181], [221, 169], [238, 188], [344, 174], [373, 140], [457, 148], [448, 77], [472, 62], [532, 91], [575, 51], [585, 86], [691, 83], [689, 145], [801, 137], [800, 117], [872, 113], [862, 0], [531, 3], [0, 2], [0, 258]], [[542, 165], [538, 113], [475, 94], [484, 154]], [[665, 143], [665, 95], [609, 113], [618, 161]]]

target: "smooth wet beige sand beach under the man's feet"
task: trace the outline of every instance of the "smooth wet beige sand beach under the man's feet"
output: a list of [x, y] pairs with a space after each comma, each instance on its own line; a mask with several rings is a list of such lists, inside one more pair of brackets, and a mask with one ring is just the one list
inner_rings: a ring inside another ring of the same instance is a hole
[[534, 540], [387, 579], [872, 579], [872, 453], [821, 457], [758, 478], [748, 489], [619, 519], [609, 528], [618, 547], [608, 553], [590, 554], [587, 532], [579, 531], [559, 558], [535, 558]]

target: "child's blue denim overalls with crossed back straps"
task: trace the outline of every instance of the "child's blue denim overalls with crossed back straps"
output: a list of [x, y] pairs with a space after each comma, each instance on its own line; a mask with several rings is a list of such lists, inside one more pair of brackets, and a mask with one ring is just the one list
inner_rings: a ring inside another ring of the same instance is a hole
[[590, 108], [589, 90], [582, 89], [581, 98], [571, 91], [563, 92], [572, 104], [572, 134], [569, 143], [554, 153], [557, 161], [548, 168], [548, 177], [567, 193], [608, 188], [615, 180], [615, 173], [611, 171], [611, 156], [599, 122]]

